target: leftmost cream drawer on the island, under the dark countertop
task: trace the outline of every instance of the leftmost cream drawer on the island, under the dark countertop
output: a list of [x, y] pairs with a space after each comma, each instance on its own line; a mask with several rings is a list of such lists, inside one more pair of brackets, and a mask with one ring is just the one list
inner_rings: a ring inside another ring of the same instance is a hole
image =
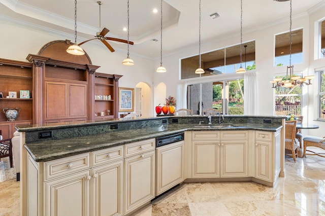
[[45, 181], [90, 168], [90, 153], [45, 162]]

